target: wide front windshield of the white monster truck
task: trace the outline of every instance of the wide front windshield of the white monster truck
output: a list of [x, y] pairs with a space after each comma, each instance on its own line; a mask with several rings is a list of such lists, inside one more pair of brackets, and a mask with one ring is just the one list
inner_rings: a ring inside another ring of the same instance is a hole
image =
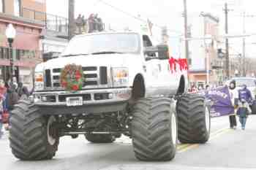
[[98, 34], [78, 36], [69, 42], [62, 55], [92, 53], [140, 53], [138, 34]]

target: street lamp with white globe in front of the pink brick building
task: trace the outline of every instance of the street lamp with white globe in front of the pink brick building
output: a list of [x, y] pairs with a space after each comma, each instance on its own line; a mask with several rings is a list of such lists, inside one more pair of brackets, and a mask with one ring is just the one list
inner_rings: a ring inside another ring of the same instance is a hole
[[13, 82], [13, 58], [12, 58], [12, 42], [15, 39], [16, 36], [16, 30], [15, 28], [12, 26], [12, 23], [10, 23], [7, 26], [7, 29], [5, 31], [5, 35], [7, 36], [7, 40], [9, 43], [9, 47], [10, 47], [10, 80], [11, 80], [11, 84]]

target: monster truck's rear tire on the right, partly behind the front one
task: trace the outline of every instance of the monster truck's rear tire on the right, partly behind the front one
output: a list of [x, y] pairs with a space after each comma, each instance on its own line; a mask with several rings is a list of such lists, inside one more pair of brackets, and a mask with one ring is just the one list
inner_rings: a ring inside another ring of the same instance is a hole
[[181, 143], [206, 143], [210, 136], [211, 118], [206, 99], [186, 94], [178, 99], [178, 140]]

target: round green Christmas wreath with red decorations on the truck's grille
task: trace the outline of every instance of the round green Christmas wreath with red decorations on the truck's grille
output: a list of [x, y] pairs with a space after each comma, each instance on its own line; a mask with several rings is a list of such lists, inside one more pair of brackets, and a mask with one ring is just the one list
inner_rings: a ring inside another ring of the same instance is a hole
[[61, 87], [65, 90], [75, 91], [83, 88], [83, 69], [75, 63], [68, 64], [61, 69]]

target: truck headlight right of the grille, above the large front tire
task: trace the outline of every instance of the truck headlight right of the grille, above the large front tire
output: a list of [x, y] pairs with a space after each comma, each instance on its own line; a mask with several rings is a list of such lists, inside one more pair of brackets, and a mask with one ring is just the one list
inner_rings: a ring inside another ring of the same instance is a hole
[[129, 82], [128, 69], [124, 67], [112, 68], [113, 86], [127, 86]]

